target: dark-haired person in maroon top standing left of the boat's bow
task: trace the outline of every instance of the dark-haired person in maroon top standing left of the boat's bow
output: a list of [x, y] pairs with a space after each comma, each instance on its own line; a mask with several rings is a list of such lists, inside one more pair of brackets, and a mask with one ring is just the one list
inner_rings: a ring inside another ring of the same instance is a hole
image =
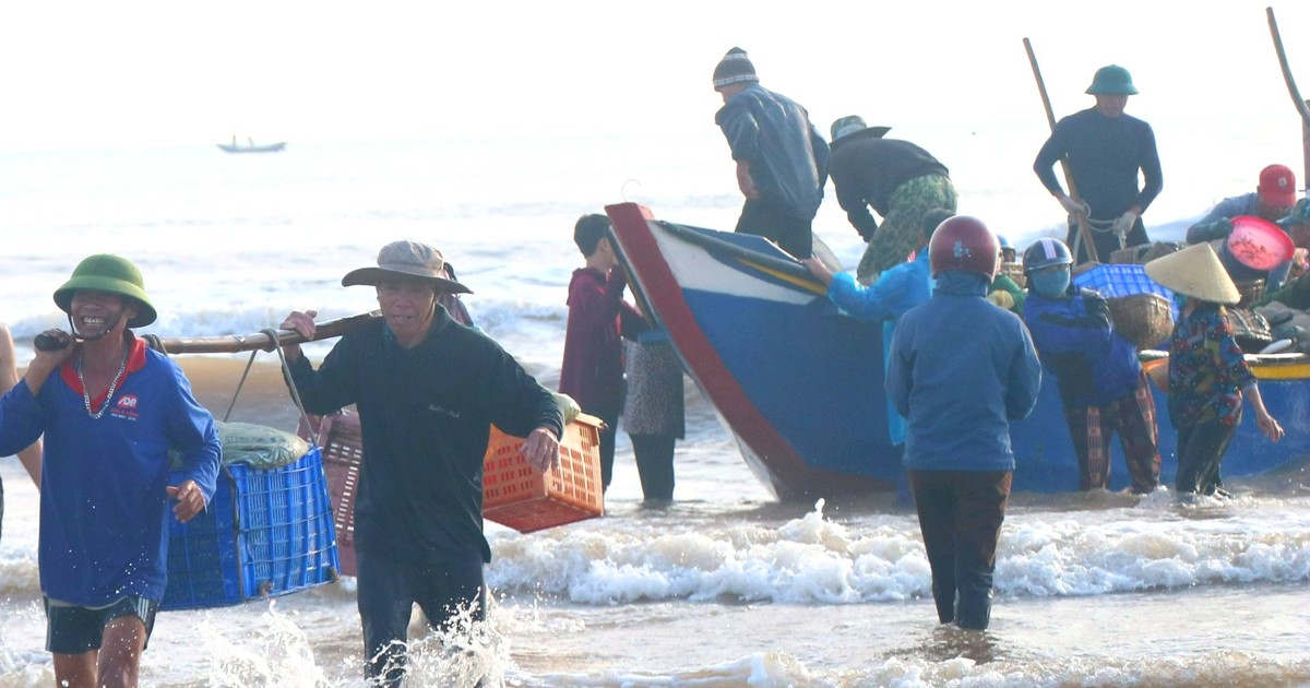
[[569, 324], [559, 393], [604, 421], [600, 431], [600, 478], [609, 489], [614, 474], [614, 432], [624, 410], [624, 339], [646, 329], [646, 318], [624, 300], [627, 280], [618, 266], [609, 218], [583, 215], [574, 244], [586, 265], [569, 280]]

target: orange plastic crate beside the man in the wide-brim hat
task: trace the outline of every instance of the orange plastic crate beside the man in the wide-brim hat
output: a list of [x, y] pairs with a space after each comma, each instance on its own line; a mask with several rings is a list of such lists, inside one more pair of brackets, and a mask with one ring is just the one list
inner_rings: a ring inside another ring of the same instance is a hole
[[519, 453], [521, 438], [493, 426], [482, 468], [482, 515], [529, 533], [604, 514], [600, 427], [599, 418], [586, 414], [569, 423], [559, 440], [559, 468], [542, 474]]

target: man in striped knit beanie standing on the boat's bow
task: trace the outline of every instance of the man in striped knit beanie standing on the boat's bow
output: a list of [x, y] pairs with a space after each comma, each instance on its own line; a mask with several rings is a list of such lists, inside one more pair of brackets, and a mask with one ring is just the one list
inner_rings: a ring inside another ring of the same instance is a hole
[[760, 85], [744, 50], [734, 47], [714, 69], [723, 107], [714, 122], [736, 161], [745, 197], [736, 231], [773, 240], [796, 258], [814, 249], [811, 223], [828, 181], [828, 143], [806, 109]]

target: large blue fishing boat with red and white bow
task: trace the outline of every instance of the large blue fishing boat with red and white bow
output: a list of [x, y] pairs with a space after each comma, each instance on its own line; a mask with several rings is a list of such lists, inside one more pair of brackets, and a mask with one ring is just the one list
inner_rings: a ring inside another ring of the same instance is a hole
[[[684, 367], [755, 474], [781, 499], [889, 490], [903, 473], [887, 431], [882, 333], [841, 313], [795, 258], [761, 237], [656, 220], [635, 203], [608, 206], [633, 294], [668, 330]], [[960, 346], [968, 346], [968, 328]], [[1162, 353], [1144, 354], [1158, 359]], [[1224, 460], [1226, 477], [1251, 476], [1310, 455], [1310, 359], [1251, 356], [1269, 411], [1286, 436], [1275, 444], [1246, 414]], [[1157, 363], [1158, 364], [1158, 363]], [[1167, 401], [1155, 392], [1162, 478], [1176, 470]], [[1055, 381], [1011, 429], [1014, 489], [1073, 491], [1078, 468]], [[1128, 486], [1119, 447], [1111, 487]]]

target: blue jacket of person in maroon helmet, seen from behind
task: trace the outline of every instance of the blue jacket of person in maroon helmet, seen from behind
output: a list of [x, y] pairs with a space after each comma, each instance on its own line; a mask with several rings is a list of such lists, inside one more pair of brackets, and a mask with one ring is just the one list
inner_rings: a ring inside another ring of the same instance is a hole
[[1019, 316], [982, 296], [988, 279], [951, 270], [901, 316], [887, 394], [909, 419], [905, 465], [1013, 470], [1010, 421], [1032, 411], [1041, 364]]

